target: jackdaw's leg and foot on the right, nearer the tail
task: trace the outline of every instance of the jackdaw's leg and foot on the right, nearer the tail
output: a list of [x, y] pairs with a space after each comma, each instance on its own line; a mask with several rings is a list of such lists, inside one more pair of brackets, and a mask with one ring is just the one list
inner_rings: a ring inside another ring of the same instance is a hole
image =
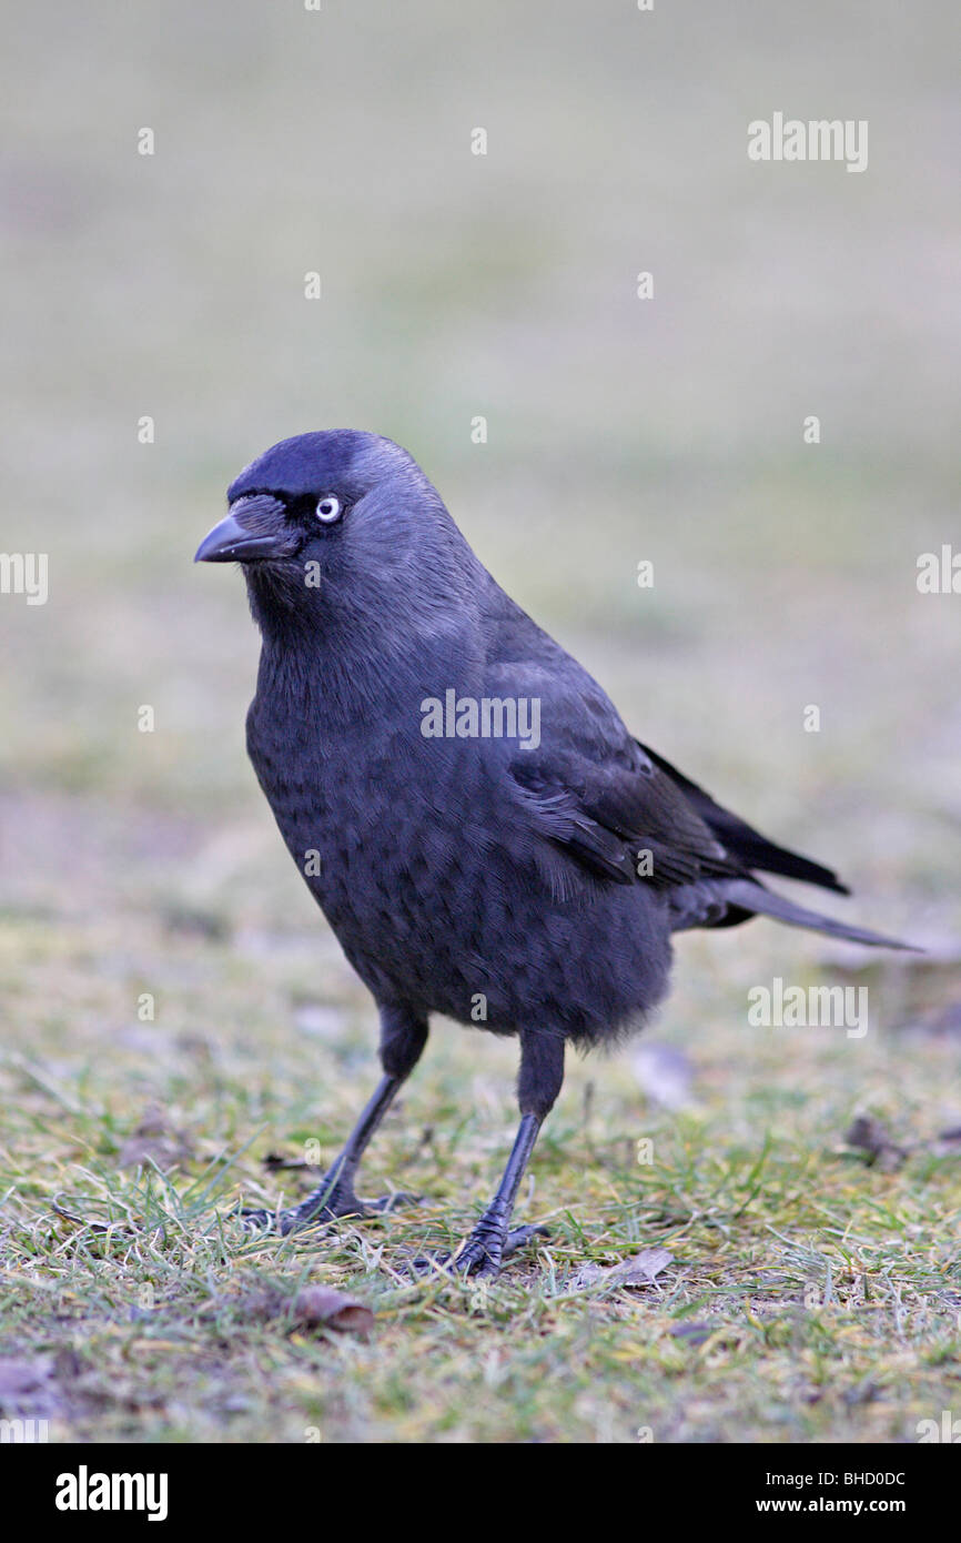
[[520, 1126], [514, 1139], [507, 1167], [491, 1205], [452, 1259], [464, 1275], [497, 1275], [501, 1262], [535, 1233], [538, 1227], [517, 1227], [511, 1231], [514, 1202], [534, 1151], [537, 1133], [554, 1108], [565, 1079], [565, 1040], [560, 1034], [541, 1031], [520, 1038]]

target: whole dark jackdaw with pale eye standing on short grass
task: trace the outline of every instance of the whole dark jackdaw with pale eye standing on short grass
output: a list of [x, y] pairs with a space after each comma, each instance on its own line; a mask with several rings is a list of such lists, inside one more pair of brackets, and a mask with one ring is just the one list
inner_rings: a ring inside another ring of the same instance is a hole
[[299, 434], [253, 460], [196, 562], [239, 563], [261, 631], [247, 750], [313, 898], [379, 1015], [381, 1079], [321, 1183], [250, 1211], [282, 1234], [369, 1216], [361, 1157], [435, 1015], [514, 1037], [520, 1123], [447, 1261], [492, 1278], [543, 1228], [518, 1187], [565, 1052], [617, 1045], [665, 998], [671, 938], [768, 917], [859, 944], [760, 875], [847, 887], [768, 841], [625, 727], [495, 582], [400, 444]]

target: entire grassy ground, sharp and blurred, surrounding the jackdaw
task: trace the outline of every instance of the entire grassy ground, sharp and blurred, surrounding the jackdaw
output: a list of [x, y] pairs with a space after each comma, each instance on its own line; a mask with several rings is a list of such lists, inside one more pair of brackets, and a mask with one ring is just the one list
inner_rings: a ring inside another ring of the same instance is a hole
[[[956, 545], [956, 31], [933, 0], [870, 34], [827, 0], [492, 0], [469, 46], [440, 0], [19, 17], [3, 545], [49, 552], [49, 602], [0, 597], [0, 1416], [765, 1443], [961, 1410], [961, 599], [915, 586]], [[870, 117], [868, 171], [748, 165], [777, 106]], [[336, 1153], [376, 1026], [245, 764], [241, 585], [190, 557], [248, 458], [335, 424], [407, 443], [634, 730], [933, 949], [679, 940], [643, 1043], [688, 1102], [629, 1048], [574, 1060], [520, 1200], [549, 1237], [486, 1290], [406, 1273], [512, 1137], [512, 1046], [450, 1025], [361, 1183], [423, 1205], [287, 1242], [236, 1219]], [[774, 975], [865, 984], [868, 1034], [750, 1028]], [[859, 1113], [899, 1167], [847, 1145]], [[651, 1247], [646, 1287], [577, 1285]], [[304, 1282], [372, 1332], [305, 1322]]]

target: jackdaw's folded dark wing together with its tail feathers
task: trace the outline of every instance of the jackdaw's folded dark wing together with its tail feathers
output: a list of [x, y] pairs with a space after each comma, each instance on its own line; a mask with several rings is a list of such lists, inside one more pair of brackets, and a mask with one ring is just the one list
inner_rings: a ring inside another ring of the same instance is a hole
[[[537, 744], [489, 745], [518, 816], [602, 881], [666, 892], [671, 930], [770, 915], [858, 943], [907, 947], [771, 893], [754, 870], [847, 893], [830, 869], [774, 846], [625, 728], [597, 682], [523, 613], [495, 617], [487, 688], [538, 702]], [[531, 722], [531, 719], [529, 719]], [[523, 813], [521, 813], [523, 812]]]

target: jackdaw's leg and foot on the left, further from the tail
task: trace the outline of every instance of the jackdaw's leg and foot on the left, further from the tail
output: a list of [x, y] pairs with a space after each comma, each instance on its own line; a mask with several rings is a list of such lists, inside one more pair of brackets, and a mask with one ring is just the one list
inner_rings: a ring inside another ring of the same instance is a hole
[[248, 1221], [275, 1225], [281, 1233], [292, 1233], [312, 1222], [330, 1222], [336, 1216], [370, 1216], [373, 1211], [390, 1210], [392, 1205], [410, 1199], [403, 1194], [384, 1196], [381, 1200], [359, 1200], [353, 1183], [370, 1137], [393, 1103], [400, 1088], [416, 1066], [427, 1043], [427, 1023], [403, 1008], [381, 1008], [381, 1077], [373, 1097], [353, 1126], [344, 1150], [330, 1165], [316, 1190], [305, 1200], [287, 1211], [245, 1211]]

